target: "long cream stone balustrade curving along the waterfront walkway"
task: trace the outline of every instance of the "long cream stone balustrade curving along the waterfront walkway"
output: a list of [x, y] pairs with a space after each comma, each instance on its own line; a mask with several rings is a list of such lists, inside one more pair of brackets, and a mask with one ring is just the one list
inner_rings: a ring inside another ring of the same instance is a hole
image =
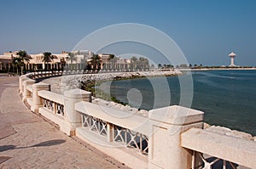
[[33, 112], [131, 168], [256, 168], [256, 142], [240, 132], [220, 132], [223, 127], [203, 129], [199, 110], [174, 105], [139, 113], [92, 102], [91, 93], [80, 89], [53, 93], [49, 84], [28, 77], [35, 79], [20, 76], [20, 94]]

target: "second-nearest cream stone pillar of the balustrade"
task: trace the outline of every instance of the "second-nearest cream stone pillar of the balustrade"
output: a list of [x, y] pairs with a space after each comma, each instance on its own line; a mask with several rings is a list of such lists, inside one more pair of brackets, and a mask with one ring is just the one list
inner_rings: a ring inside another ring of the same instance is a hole
[[71, 89], [64, 92], [65, 121], [70, 123], [69, 129], [66, 130], [68, 135], [73, 135], [75, 128], [81, 127], [82, 116], [74, 109], [74, 104], [82, 100], [91, 102], [91, 93], [81, 89]]

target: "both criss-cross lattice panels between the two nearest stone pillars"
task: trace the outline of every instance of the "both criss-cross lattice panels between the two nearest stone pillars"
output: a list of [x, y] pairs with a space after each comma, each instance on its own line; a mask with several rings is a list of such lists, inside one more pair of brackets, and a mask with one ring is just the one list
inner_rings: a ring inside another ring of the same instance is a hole
[[[109, 127], [112, 128], [109, 129], [112, 131], [108, 131], [107, 125], [112, 126]], [[114, 142], [124, 144], [128, 148], [139, 149], [143, 155], [148, 155], [148, 137], [140, 132], [134, 132], [114, 124], [107, 124], [106, 121], [87, 114], [82, 115], [82, 126], [106, 138], [108, 137], [108, 133], [113, 133], [110, 137]]]

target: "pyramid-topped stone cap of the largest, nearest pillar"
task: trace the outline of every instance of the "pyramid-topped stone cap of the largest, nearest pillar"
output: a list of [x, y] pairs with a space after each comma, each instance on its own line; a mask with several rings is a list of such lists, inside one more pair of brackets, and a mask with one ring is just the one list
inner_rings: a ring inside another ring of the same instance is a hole
[[201, 122], [203, 121], [203, 116], [204, 113], [200, 110], [193, 110], [179, 105], [148, 111], [148, 118], [150, 120], [172, 125], [187, 125]]

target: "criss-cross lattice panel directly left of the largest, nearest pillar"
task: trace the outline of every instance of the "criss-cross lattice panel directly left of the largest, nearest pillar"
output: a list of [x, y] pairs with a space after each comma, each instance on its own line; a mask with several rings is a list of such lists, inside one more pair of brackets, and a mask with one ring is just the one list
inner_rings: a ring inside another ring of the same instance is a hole
[[113, 141], [139, 149], [143, 155], [148, 155], [148, 137], [140, 132], [113, 125]]

